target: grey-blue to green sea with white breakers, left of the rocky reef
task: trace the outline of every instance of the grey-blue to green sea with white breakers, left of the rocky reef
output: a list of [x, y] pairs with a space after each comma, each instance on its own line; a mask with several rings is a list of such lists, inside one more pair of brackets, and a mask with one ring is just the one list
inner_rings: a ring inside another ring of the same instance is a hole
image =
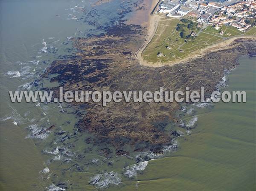
[[[133, 2], [112, 1], [102, 5], [97, 1], [0, 3], [1, 190], [54, 190], [54, 183], [62, 179], [54, 182], [52, 175], [54, 172], [61, 175], [64, 168], [59, 168], [58, 161], [68, 161], [75, 154], [67, 151], [54, 134], [35, 136], [35, 133], [54, 124], [56, 131], [73, 132], [78, 118], [64, 104], [11, 103], [8, 92], [35, 90], [31, 83], [53, 60], [76, 51], [70, 44], [71, 37], [104, 33], [104, 27], [131, 17], [132, 10], [125, 9]], [[46, 81], [44, 87], [55, 85]], [[84, 139], [81, 140], [74, 150], [83, 149]], [[58, 146], [65, 158], [58, 153]], [[88, 185], [88, 180], [83, 182]]]

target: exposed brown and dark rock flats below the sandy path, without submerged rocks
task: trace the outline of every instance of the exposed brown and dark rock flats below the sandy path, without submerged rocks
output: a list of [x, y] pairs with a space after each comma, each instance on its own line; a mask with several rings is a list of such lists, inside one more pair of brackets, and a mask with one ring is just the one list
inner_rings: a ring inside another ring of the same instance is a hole
[[[241, 55], [255, 54], [255, 40], [239, 39], [230, 48], [209, 52], [201, 58], [174, 66], [150, 68], [140, 66], [135, 52], [143, 43], [145, 29], [120, 23], [109, 27], [107, 34], [73, 38], [78, 50], [73, 59], [56, 60], [41, 76], [58, 82], [64, 91], [178, 91], [189, 87], [206, 96], [216, 90], [217, 83]], [[234, 56], [236, 55], [236, 56]], [[58, 74], [50, 77], [51, 74]], [[58, 93], [58, 87], [48, 90]], [[116, 155], [152, 151], [161, 153], [171, 145], [175, 133], [166, 131], [169, 123], [177, 123], [178, 103], [109, 103], [106, 107], [93, 102], [83, 103], [87, 114], [76, 123], [79, 132], [89, 132], [94, 143], [107, 143], [116, 148]], [[72, 103], [76, 106], [77, 103]]]

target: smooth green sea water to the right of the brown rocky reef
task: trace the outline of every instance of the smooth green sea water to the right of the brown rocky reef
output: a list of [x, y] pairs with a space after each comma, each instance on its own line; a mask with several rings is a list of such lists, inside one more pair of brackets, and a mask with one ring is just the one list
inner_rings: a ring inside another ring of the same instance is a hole
[[149, 161], [133, 186], [122, 190], [255, 190], [255, 68], [255, 57], [243, 57], [224, 89], [246, 91], [247, 103], [219, 102], [198, 114], [192, 134], [178, 140], [180, 149]]

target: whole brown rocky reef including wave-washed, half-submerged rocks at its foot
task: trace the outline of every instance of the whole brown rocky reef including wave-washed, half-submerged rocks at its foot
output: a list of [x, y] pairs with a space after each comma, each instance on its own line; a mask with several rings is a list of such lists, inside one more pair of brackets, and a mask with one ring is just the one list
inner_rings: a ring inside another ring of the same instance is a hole
[[[37, 87], [44, 87], [45, 80], [59, 84], [64, 91], [154, 92], [159, 87], [164, 91], [189, 87], [190, 91], [200, 92], [204, 86], [209, 97], [218, 89], [218, 83], [227, 71], [239, 64], [240, 56], [256, 54], [255, 40], [238, 39], [224, 50], [209, 52], [189, 62], [152, 68], [140, 65], [136, 57], [145, 43], [146, 28], [127, 24], [121, 18], [117, 24], [102, 29], [106, 33], [71, 38], [69, 42], [76, 53], [62, 55], [53, 61], [35, 83]], [[54, 97], [57, 97], [59, 86], [43, 89], [54, 91]], [[151, 159], [179, 149], [178, 139], [186, 139], [197, 120], [193, 111], [188, 109], [186, 112], [190, 112], [192, 118], [182, 121], [177, 114], [184, 110], [180, 103], [122, 101], [110, 102], [103, 107], [101, 103], [90, 101], [68, 103], [68, 107], [76, 115], [76, 124], [73, 129], [65, 131], [56, 128], [51, 149], [42, 151], [54, 155], [47, 161], [48, 165], [60, 162], [65, 178], [54, 174], [51, 180], [62, 189], [81, 188], [81, 185], [64, 182], [72, 172], [76, 172], [76, 176], [83, 173], [88, 177], [87, 184], [100, 189], [108, 188], [110, 184], [119, 185], [124, 179], [133, 179]], [[65, 108], [61, 109], [61, 112], [67, 112]], [[81, 144], [84, 148], [77, 151], [76, 145], [81, 147]], [[113, 171], [117, 166], [120, 168], [120, 163], [121, 170]], [[101, 167], [104, 170], [100, 171], [98, 165], [104, 166]], [[51, 171], [50, 166], [49, 169]], [[76, 180], [75, 174], [73, 178]]]

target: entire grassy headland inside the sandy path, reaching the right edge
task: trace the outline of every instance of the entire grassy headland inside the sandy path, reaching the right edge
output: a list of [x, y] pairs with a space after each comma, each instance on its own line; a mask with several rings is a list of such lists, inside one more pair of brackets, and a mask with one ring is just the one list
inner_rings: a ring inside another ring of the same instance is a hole
[[[156, 34], [142, 53], [144, 60], [153, 63], [180, 60], [193, 51], [218, 43], [227, 37], [256, 34], [256, 27], [243, 33], [232, 26], [222, 25], [218, 30], [215, 30], [212, 26], [208, 26], [204, 30], [200, 28], [185, 28], [186, 34], [190, 34], [192, 31], [196, 32], [194, 38], [185, 38], [185, 40], [180, 37], [180, 31], [176, 30], [177, 24], [184, 23], [175, 18], [164, 19], [159, 22]], [[224, 31], [223, 35], [219, 34], [221, 31]], [[163, 56], [157, 57], [159, 53], [162, 53]]]

